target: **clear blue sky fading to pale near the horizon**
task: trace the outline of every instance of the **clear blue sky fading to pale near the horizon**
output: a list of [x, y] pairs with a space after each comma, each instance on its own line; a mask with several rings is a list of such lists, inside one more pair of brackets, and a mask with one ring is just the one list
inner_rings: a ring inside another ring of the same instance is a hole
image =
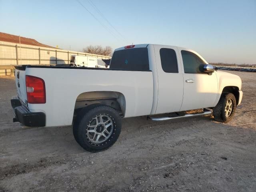
[[0, 0], [0, 32], [75, 51], [164, 44], [256, 64], [256, 0]]

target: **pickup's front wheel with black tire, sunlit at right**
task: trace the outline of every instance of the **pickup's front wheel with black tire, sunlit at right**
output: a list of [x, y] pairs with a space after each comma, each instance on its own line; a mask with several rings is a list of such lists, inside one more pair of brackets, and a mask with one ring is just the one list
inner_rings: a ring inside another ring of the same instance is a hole
[[[226, 106], [227, 101], [232, 102], [232, 109], [230, 113], [227, 114], [225, 109], [229, 110], [229, 106]], [[229, 122], [236, 111], [236, 98], [232, 93], [224, 93], [220, 96], [218, 104], [213, 108], [214, 119], [218, 122]]]

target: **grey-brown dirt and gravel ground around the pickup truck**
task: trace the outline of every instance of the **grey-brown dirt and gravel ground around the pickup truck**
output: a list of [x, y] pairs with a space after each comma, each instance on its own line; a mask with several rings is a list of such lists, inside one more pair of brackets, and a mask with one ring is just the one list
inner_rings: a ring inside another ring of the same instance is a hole
[[256, 73], [231, 73], [244, 91], [231, 122], [127, 118], [116, 144], [99, 153], [83, 150], [71, 127], [13, 123], [14, 78], [0, 78], [0, 192], [255, 192]]

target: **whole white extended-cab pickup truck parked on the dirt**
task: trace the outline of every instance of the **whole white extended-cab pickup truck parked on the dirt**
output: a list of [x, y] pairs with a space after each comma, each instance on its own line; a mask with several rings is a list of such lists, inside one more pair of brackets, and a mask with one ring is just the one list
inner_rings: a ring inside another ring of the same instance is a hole
[[[243, 94], [239, 76], [217, 71], [198, 53], [176, 46], [118, 48], [109, 69], [15, 68], [14, 122], [73, 125], [74, 138], [88, 151], [112, 146], [123, 117], [148, 116], [161, 121], [213, 113], [215, 120], [228, 122]], [[203, 110], [186, 112], [193, 109]]]

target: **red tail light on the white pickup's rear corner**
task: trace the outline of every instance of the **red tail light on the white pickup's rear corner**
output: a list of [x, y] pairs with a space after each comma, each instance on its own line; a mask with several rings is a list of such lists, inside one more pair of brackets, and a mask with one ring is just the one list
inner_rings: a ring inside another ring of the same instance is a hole
[[26, 90], [28, 103], [46, 103], [45, 84], [43, 79], [26, 75]]

